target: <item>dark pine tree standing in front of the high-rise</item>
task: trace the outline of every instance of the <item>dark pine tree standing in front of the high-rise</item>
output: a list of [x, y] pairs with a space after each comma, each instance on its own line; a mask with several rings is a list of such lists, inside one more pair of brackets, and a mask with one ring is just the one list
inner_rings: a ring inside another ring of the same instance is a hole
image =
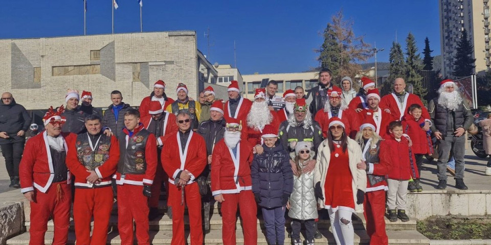
[[453, 75], [455, 77], [467, 77], [471, 76], [473, 73], [474, 62], [476, 59], [472, 58], [472, 53], [474, 52], [474, 46], [467, 39], [467, 31], [464, 29], [462, 31], [462, 36], [460, 36], [460, 41], [457, 43], [457, 54], [455, 55], [455, 69]]

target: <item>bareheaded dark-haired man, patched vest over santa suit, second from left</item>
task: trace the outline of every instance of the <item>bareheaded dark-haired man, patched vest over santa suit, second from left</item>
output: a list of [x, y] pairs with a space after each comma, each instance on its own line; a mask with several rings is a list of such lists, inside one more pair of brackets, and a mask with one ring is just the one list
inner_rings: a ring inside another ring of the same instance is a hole
[[[111, 177], [119, 161], [116, 136], [101, 131], [101, 117], [85, 117], [87, 133], [69, 144], [66, 166], [75, 175], [73, 219], [77, 244], [105, 244], [109, 217], [113, 209]], [[94, 229], [91, 238], [91, 221]]]

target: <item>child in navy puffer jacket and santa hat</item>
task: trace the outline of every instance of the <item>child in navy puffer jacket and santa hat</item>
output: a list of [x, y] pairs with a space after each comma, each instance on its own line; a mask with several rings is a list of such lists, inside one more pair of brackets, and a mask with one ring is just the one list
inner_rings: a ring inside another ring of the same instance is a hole
[[261, 207], [269, 244], [284, 244], [285, 210], [293, 189], [292, 165], [278, 140], [278, 130], [266, 125], [262, 130], [262, 154], [254, 154], [251, 166], [252, 192]]

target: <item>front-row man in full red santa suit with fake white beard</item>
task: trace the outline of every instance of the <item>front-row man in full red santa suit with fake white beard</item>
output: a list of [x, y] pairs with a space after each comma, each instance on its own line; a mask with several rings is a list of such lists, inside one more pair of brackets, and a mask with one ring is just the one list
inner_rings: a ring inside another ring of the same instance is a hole
[[242, 125], [238, 119], [227, 120], [224, 139], [213, 150], [211, 190], [221, 203], [222, 241], [235, 245], [237, 207], [242, 218], [244, 244], [257, 244], [257, 206], [252, 192], [252, 145], [240, 138]]

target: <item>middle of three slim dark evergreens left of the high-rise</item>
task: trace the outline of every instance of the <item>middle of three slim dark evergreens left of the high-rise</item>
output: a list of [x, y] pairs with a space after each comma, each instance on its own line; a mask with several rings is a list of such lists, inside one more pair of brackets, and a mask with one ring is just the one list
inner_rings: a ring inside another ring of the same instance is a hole
[[424, 97], [427, 94], [427, 90], [423, 88], [423, 77], [419, 75], [419, 71], [422, 68], [423, 65], [421, 64], [421, 58], [416, 47], [416, 40], [413, 34], [409, 33], [406, 38], [406, 83], [412, 84], [413, 93], [418, 95], [423, 103], [426, 103]]

